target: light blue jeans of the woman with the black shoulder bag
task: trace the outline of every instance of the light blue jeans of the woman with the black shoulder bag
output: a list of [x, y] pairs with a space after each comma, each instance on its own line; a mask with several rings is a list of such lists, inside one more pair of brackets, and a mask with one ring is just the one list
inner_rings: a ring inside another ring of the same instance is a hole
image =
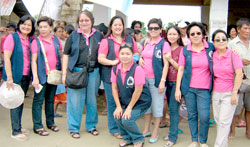
[[88, 86], [86, 88], [67, 89], [67, 119], [69, 132], [79, 132], [84, 105], [86, 105], [86, 130], [94, 130], [98, 123], [96, 97], [100, 86], [99, 68], [95, 68], [93, 72], [90, 72], [88, 78]]

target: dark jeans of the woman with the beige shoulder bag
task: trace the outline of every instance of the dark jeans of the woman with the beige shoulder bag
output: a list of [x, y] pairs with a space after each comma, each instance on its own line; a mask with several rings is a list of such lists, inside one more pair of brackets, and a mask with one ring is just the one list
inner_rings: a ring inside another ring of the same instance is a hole
[[54, 125], [54, 96], [56, 93], [56, 85], [51, 85], [48, 83], [42, 84], [43, 88], [40, 93], [35, 93], [33, 104], [32, 104], [32, 119], [33, 119], [33, 129], [37, 130], [43, 128], [42, 124], [42, 105], [45, 99], [45, 116], [46, 125]]

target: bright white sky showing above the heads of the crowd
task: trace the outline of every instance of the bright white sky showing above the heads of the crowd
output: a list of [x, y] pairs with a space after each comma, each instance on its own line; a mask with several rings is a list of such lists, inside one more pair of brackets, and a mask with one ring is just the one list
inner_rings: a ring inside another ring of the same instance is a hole
[[[32, 16], [41, 10], [43, 0], [23, 0]], [[201, 21], [201, 8], [199, 6], [175, 6], [175, 5], [132, 5], [128, 13], [128, 27], [133, 20], [139, 20], [145, 24], [151, 18], [161, 18], [163, 24], [168, 22]]]

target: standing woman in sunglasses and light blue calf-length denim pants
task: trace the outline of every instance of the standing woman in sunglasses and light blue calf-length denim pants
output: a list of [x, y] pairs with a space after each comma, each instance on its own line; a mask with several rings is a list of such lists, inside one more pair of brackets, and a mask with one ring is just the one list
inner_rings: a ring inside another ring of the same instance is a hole
[[[163, 116], [163, 105], [165, 95], [165, 84], [168, 72], [168, 61], [164, 56], [171, 52], [169, 44], [161, 38], [162, 21], [153, 18], [148, 23], [150, 34], [139, 60], [140, 65], [144, 68], [146, 74], [146, 84], [152, 97], [152, 104], [145, 113], [145, 127], [143, 134], [145, 137], [151, 136], [150, 143], [158, 141], [158, 128], [161, 117]], [[154, 117], [154, 129], [151, 134], [151, 118]]]

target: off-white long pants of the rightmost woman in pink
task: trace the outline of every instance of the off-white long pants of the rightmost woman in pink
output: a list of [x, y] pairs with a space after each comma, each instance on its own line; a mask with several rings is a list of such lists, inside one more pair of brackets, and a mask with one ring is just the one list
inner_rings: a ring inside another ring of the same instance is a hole
[[217, 124], [215, 147], [227, 147], [230, 125], [236, 105], [231, 104], [232, 92], [213, 92], [213, 112]]

